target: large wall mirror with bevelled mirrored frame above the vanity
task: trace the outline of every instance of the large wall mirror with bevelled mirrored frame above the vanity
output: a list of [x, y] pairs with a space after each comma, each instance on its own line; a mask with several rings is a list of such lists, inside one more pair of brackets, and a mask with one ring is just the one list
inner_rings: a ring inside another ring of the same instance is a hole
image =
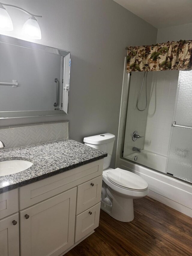
[[0, 118], [68, 113], [70, 52], [0, 35]]

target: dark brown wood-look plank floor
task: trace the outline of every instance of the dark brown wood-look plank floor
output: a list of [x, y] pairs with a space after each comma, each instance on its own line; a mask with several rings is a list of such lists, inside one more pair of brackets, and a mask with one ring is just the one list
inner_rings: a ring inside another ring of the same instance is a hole
[[192, 256], [192, 218], [150, 197], [134, 200], [134, 214], [125, 223], [101, 210], [95, 233], [64, 256]]

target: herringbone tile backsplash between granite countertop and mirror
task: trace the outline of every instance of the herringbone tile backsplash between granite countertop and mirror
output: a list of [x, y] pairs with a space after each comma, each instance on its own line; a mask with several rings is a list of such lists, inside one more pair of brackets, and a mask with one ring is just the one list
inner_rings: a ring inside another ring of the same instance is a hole
[[69, 137], [69, 122], [29, 125], [0, 129], [0, 140], [4, 149], [29, 146]]

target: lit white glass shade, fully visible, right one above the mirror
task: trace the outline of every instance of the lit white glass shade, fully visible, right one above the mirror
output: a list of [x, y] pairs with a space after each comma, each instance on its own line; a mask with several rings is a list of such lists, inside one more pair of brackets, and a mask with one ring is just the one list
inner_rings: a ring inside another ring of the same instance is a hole
[[30, 17], [22, 28], [23, 35], [33, 39], [41, 39], [41, 29], [34, 16]]

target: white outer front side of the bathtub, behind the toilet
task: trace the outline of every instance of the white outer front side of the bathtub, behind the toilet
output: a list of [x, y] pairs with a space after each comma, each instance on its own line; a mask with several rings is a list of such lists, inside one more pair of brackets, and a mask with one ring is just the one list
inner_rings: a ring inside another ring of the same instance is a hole
[[123, 159], [119, 167], [145, 179], [150, 197], [192, 217], [192, 185]]

